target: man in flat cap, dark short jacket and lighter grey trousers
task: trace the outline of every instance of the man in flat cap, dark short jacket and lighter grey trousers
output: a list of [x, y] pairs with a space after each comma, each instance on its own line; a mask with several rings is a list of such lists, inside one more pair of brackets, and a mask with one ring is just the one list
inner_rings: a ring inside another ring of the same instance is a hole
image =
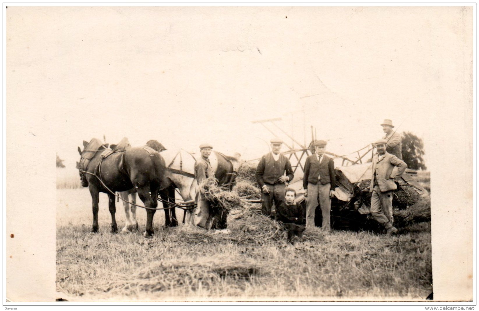
[[331, 196], [336, 188], [334, 161], [324, 152], [325, 140], [314, 142], [316, 153], [306, 158], [303, 176], [303, 188], [306, 199], [306, 229], [314, 228], [316, 207], [321, 207], [323, 222], [321, 228], [331, 230]]

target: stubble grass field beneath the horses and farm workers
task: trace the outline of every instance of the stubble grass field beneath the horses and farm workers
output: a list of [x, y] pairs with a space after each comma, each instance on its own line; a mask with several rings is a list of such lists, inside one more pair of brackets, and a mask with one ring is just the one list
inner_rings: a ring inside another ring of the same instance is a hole
[[[427, 177], [421, 180], [429, 184]], [[429, 186], [430, 189], [430, 186]], [[57, 190], [57, 290], [68, 300], [424, 300], [432, 291], [430, 222], [387, 237], [368, 231], [333, 231], [316, 241], [234, 243], [182, 241], [163, 228], [145, 239], [140, 230], [110, 233], [108, 199], [100, 195], [100, 233], [90, 234], [86, 188]], [[177, 210], [177, 215], [182, 215]], [[118, 228], [125, 224], [117, 203]], [[239, 230], [238, 220], [228, 227]], [[208, 242], [209, 241], [209, 242]]]

